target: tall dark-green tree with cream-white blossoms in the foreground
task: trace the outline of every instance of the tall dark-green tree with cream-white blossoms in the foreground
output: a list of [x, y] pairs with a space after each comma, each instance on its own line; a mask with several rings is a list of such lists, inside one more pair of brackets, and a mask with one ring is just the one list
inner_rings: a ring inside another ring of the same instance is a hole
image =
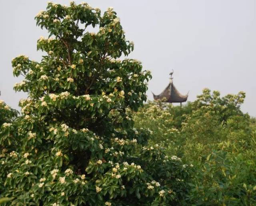
[[126, 112], [143, 105], [151, 75], [135, 59], [118, 59], [134, 44], [116, 12], [50, 2], [36, 22], [53, 37], [38, 40], [46, 52], [40, 62], [12, 60], [14, 75], [25, 77], [14, 90], [28, 98], [19, 103], [22, 115], [0, 130], [0, 196], [53, 206], [178, 201], [171, 171], [180, 159], [147, 146], [151, 131], [134, 128]]

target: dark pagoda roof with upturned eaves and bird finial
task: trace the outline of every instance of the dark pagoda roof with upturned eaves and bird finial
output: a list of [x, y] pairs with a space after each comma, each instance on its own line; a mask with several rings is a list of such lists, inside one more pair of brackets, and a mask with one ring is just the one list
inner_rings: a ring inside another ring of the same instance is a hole
[[169, 103], [181, 103], [186, 102], [188, 99], [188, 94], [182, 95], [180, 92], [176, 89], [176, 87], [173, 84], [173, 78], [172, 78], [173, 71], [170, 73], [170, 83], [164, 91], [161, 94], [155, 95], [153, 92], [154, 100], [162, 100], [163, 102], [169, 102]]

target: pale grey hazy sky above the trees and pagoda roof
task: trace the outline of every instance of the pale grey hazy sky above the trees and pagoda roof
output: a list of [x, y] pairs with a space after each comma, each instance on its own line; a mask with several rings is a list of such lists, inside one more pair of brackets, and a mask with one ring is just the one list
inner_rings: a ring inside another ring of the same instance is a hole
[[[46, 10], [46, 0], [1, 1], [0, 99], [18, 109], [26, 98], [13, 85], [11, 60], [20, 54], [40, 61], [36, 41], [47, 37], [34, 17]], [[55, 3], [69, 4], [69, 0]], [[75, 1], [77, 4], [82, 1]], [[88, 0], [102, 13], [110, 6], [120, 18], [126, 39], [134, 41], [129, 58], [152, 72], [148, 99], [159, 94], [174, 70], [174, 84], [194, 101], [203, 88], [221, 95], [246, 92], [242, 111], [256, 116], [256, 1], [255, 0]]]

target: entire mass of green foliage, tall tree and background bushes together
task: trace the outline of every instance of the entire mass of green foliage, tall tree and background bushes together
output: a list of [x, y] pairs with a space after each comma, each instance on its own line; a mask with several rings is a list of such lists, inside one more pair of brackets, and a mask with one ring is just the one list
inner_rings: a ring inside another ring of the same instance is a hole
[[0, 100], [0, 204], [256, 205], [244, 92], [143, 105], [151, 75], [118, 59], [134, 44], [113, 8], [50, 2], [36, 22], [52, 37], [40, 62], [12, 60], [21, 114]]

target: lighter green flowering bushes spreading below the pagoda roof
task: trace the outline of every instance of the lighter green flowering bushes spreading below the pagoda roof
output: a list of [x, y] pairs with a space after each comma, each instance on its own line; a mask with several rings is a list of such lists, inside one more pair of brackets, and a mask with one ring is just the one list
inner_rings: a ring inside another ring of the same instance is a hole
[[244, 98], [204, 89], [185, 106], [148, 102], [133, 114], [153, 131], [152, 143], [194, 166], [188, 205], [256, 204], [256, 124], [240, 110]]

